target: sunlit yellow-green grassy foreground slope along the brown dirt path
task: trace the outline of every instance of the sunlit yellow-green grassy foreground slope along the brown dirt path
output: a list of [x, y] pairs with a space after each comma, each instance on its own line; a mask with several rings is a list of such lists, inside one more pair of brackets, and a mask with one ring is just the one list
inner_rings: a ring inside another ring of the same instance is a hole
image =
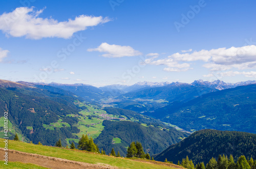
[[[3, 139], [0, 139], [0, 147], [4, 147]], [[39, 155], [58, 157], [68, 160], [81, 161], [87, 163], [104, 163], [120, 168], [172, 168], [168, 164], [151, 160], [142, 160], [144, 162], [131, 160], [127, 158], [109, 157], [106, 155], [99, 155], [97, 153], [89, 153], [86, 151], [78, 151], [71, 149], [61, 149], [56, 147], [39, 146], [35, 144], [9, 140], [9, 149], [22, 151], [26, 153], [34, 153]], [[23, 163], [15, 162], [13, 165], [23, 165]], [[28, 164], [25, 164], [28, 165]], [[16, 166], [18, 167], [18, 166]]]

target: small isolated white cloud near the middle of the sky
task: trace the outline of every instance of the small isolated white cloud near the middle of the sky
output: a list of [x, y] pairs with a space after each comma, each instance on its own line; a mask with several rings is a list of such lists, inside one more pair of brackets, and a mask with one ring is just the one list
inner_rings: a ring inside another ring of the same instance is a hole
[[131, 46], [120, 46], [116, 44], [108, 44], [108, 43], [101, 43], [95, 49], [88, 49], [87, 51], [93, 52], [104, 52], [103, 57], [109, 58], [117, 58], [117, 57], [124, 57], [124, 56], [139, 56], [142, 55], [139, 51], [135, 51]]

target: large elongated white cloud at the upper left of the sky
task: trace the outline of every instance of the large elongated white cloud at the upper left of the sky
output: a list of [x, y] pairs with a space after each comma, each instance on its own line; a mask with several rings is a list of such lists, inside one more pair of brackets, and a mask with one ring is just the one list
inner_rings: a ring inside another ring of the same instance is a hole
[[76, 16], [74, 20], [68, 19], [68, 21], [59, 22], [52, 18], [38, 17], [44, 10], [36, 11], [34, 7], [19, 7], [13, 12], [3, 13], [0, 15], [0, 30], [13, 37], [67, 39], [77, 31], [110, 21], [108, 17], [80, 15]]

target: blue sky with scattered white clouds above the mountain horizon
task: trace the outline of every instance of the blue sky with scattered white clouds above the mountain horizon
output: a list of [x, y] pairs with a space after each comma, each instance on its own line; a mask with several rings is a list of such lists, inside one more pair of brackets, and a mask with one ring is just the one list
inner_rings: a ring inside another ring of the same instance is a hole
[[255, 1], [0, 3], [0, 79], [103, 86], [256, 78]]

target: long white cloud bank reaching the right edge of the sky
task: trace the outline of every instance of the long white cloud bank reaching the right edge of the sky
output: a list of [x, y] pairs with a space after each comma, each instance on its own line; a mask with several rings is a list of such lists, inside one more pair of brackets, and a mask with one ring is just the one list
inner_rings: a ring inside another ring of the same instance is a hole
[[[212, 50], [192, 50], [182, 51], [183, 53], [175, 53], [164, 59], [155, 60], [156, 57], [146, 59], [144, 64], [166, 65], [166, 71], [187, 71], [191, 68], [193, 61], [206, 62], [203, 67], [210, 71], [229, 70], [236, 68], [239, 70], [256, 67], [256, 46], [247, 45], [242, 47], [222, 47]], [[158, 57], [158, 56], [157, 56]]]

